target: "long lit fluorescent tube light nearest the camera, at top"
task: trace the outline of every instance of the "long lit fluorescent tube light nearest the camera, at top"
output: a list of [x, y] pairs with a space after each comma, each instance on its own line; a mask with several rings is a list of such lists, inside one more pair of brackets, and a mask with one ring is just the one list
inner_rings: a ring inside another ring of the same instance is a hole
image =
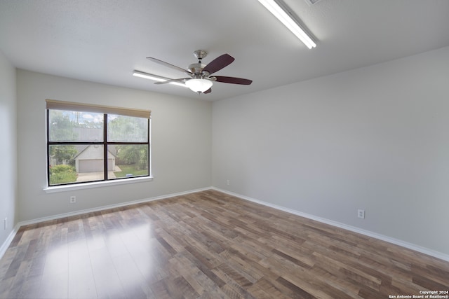
[[315, 48], [316, 43], [304, 32], [298, 25], [299, 22], [293, 19], [288, 13], [286, 6], [281, 4], [279, 0], [258, 0], [267, 10], [272, 13], [278, 20], [282, 22], [298, 39], [300, 39], [307, 48]]

